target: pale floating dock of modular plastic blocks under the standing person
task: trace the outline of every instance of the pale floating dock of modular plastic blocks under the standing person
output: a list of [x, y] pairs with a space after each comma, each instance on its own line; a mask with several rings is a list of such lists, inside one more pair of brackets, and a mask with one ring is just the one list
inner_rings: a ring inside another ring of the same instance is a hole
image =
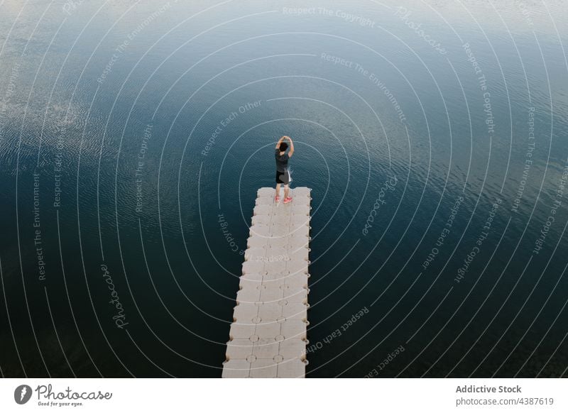
[[283, 192], [257, 192], [223, 378], [305, 377], [311, 189]]

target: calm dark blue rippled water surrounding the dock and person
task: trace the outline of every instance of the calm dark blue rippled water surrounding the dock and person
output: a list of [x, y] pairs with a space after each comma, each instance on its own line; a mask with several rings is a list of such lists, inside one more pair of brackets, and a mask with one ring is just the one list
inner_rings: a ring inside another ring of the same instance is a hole
[[283, 134], [309, 377], [567, 375], [567, 6], [309, 6], [0, 5], [2, 375], [220, 377]]

